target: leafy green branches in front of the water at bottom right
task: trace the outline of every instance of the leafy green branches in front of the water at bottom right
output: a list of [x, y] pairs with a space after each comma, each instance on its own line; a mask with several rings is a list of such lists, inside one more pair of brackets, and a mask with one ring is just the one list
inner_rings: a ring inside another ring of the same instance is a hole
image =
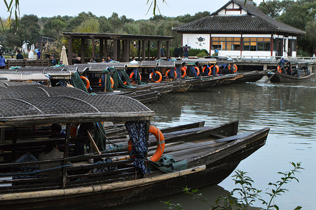
[[[261, 201], [262, 204], [266, 205], [266, 209], [279, 209], [276, 204], [272, 204], [275, 197], [277, 195], [282, 195], [282, 193], [285, 193], [285, 191], [288, 191], [286, 188], [284, 188], [284, 184], [291, 182], [292, 180], [295, 180], [297, 182], [298, 179], [296, 179], [295, 174], [300, 172], [303, 167], [301, 167], [301, 162], [294, 163], [290, 162], [291, 165], [294, 167], [289, 172], [278, 172], [277, 174], [282, 174], [280, 181], [277, 181], [276, 183], [268, 183], [269, 186], [273, 186], [273, 189], [268, 188], [268, 193], [270, 200], [266, 201], [263, 200], [262, 197], [259, 195], [259, 193], [262, 192], [262, 190], [257, 190], [252, 186], [254, 181], [247, 176], [247, 172], [242, 172], [240, 170], [235, 171], [235, 174], [233, 175], [233, 181], [235, 181], [236, 185], [240, 185], [240, 188], [235, 188], [232, 190], [230, 194], [227, 196], [220, 196], [217, 197], [217, 200], [215, 200], [214, 204], [210, 204], [207, 202], [207, 199], [202, 195], [202, 193], [198, 193], [198, 189], [191, 190], [190, 188], [184, 188], [184, 193], [190, 194], [193, 196], [193, 199], [199, 200], [200, 202], [203, 202], [205, 204], [209, 205], [209, 209], [248, 209], [248, 207], [251, 207], [254, 202], [257, 200]], [[233, 197], [234, 194], [238, 194], [240, 198]], [[181, 204], [172, 204], [170, 201], [164, 202], [168, 206], [169, 209], [182, 209]], [[302, 207], [296, 207], [294, 210], [301, 209]]]

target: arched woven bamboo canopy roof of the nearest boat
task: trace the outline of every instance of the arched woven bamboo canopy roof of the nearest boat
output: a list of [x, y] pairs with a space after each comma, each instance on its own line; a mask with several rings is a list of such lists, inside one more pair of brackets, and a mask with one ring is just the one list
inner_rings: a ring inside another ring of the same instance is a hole
[[130, 97], [90, 95], [76, 88], [43, 85], [1, 88], [0, 126], [123, 122], [154, 116], [153, 111]]

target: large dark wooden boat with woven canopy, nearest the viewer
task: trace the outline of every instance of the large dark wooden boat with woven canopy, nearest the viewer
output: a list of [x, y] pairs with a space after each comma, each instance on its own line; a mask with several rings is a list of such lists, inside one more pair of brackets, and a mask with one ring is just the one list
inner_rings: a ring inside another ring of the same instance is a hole
[[[145, 147], [144, 151], [148, 149], [148, 153], [136, 153], [136, 157], [147, 157], [158, 147], [156, 138], [149, 134], [153, 111], [129, 97], [85, 94], [70, 97], [66, 93], [53, 96], [51, 88], [55, 87], [45, 87], [52, 93], [45, 97], [8, 99], [4, 96], [0, 100], [0, 209], [96, 209], [180, 193], [184, 186], [201, 188], [217, 184], [229, 176], [241, 160], [265, 144], [269, 131], [263, 128], [238, 134], [238, 121], [215, 127], [197, 123], [162, 130], [164, 154], [172, 155], [177, 163], [187, 162], [187, 167], [169, 173], [153, 167], [142, 174], [136, 165], [142, 159], [130, 158], [134, 154], [129, 155], [123, 147], [98, 151], [100, 146], [92, 130], [86, 136], [74, 137], [70, 134], [71, 123], [114, 121], [128, 122], [127, 126], [144, 125], [144, 130], [134, 131], [137, 135], [129, 129], [128, 133], [130, 139], [144, 138], [149, 143], [148, 148], [147, 144], [141, 146]], [[73, 88], [67, 88], [68, 92], [71, 90]], [[48, 137], [43, 125], [50, 123], [65, 125], [66, 136]], [[80, 139], [85, 139], [93, 151], [74, 155], [73, 144]], [[12, 162], [27, 152], [37, 157], [44, 149], [42, 145], [51, 141], [58, 141], [64, 158]], [[32, 169], [32, 166], [56, 163], [60, 167], [50, 169], [50, 173]], [[140, 162], [141, 165], [146, 163]], [[57, 174], [50, 177], [53, 172]]]

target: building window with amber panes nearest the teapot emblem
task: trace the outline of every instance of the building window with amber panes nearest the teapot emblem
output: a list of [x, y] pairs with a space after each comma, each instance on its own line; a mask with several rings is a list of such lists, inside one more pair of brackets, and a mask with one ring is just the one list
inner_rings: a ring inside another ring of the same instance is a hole
[[239, 37], [212, 37], [212, 50], [240, 50]]

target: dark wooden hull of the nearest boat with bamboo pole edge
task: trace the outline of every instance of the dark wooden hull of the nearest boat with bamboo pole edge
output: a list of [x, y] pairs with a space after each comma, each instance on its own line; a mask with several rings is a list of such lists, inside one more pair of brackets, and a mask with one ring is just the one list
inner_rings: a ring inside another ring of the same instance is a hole
[[[223, 131], [219, 128], [212, 130], [212, 133]], [[264, 128], [232, 141], [217, 151], [191, 158], [188, 160], [189, 169], [180, 172], [155, 172], [145, 179], [80, 188], [15, 193], [10, 200], [0, 197], [0, 209], [99, 209], [174, 195], [181, 193], [186, 186], [202, 188], [218, 184], [233, 172], [241, 160], [265, 144], [268, 131], [268, 128]], [[32, 194], [34, 196], [30, 196]]]

